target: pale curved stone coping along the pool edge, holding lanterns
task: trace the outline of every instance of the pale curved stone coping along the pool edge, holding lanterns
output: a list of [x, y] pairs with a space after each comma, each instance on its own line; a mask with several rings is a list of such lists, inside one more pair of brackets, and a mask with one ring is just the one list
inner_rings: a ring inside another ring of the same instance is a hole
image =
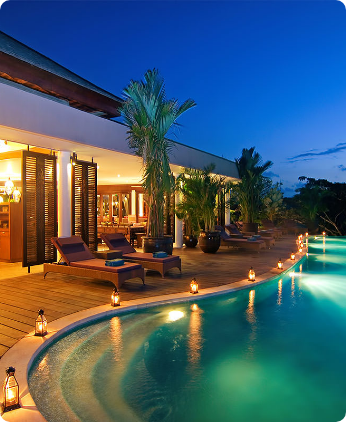
[[[5, 369], [9, 366], [16, 368], [16, 379], [19, 384], [20, 404], [19, 409], [11, 412], [2, 413], [0, 410], [0, 421], [5, 422], [47, 422], [37, 409], [35, 402], [29, 392], [28, 373], [36, 356], [49, 344], [56, 341], [65, 333], [83, 326], [91, 321], [97, 321], [108, 316], [115, 316], [125, 312], [131, 312], [138, 309], [149, 308], [158, 305], [167, 305], [181, 302], [195, 302], [208, 297], [219, 296], [238, 290], [256, 287], [267, 283], [280, 274], [286, 274], [289, 270], [299, 264], [306, 258], [306, 249], [302, 253], [296, 254], [296, 260], [293, 262], [287, 259], [283, 263], [283, 270], [273, 268], [270, 271], [256, 276], [255, 282], [249, 282], [247, 279], [239, 280], [231, 284], [224, 284], [217, 287], [199, 290], [198, 294], [192, 295], [190, 292], [174, 293], [170, 295], [153, 296], [149, 298], [134, 299], [121, 302], [121, 306], [112, 307], [110, 304], [86, 309], [59, 318], [48, 324], [49, 332], [45, 337], [37, 337], [34, 331], [27, 334], [12, 346], [0, 360], [0, 376], [5, 374]], [[0, 402], [3, 401], [3, 392], [0, 392]]]

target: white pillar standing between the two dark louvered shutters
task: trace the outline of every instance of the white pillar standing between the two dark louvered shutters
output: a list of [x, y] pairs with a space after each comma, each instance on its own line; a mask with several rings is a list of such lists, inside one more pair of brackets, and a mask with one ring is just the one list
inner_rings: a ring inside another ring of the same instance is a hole
[[71, 236], [72, 197], [70, 152], [58, 153], [58, 236]]

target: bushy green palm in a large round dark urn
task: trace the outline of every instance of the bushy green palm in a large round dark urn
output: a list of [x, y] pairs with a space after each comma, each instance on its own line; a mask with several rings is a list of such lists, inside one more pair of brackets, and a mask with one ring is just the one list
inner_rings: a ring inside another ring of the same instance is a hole
[[204, 170], [185, 169], [178, 180], [183, 192], [182, 207], [197, 222], [199, 246], [205, 253], [215, 253], [220, 247], [220, 232], [214, 226], [216, 196], [223, 179], [212, 175], [214, 168], [211, 164]]

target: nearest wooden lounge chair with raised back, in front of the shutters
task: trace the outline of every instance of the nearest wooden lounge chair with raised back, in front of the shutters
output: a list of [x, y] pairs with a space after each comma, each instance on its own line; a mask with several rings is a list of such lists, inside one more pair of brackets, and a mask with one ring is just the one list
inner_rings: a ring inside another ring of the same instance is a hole
[[144, 284], [144, 268], [141, 265], [125, 262], [119, 267], [107, 267], [104, 259], [93, 256], [80, 236], [53, 237], [52, 243], [66, 265], [44, 264], [44, 278], [49, 272], [70, 274], [108, 280], [119, 289], [126, 280], [138, 277]]

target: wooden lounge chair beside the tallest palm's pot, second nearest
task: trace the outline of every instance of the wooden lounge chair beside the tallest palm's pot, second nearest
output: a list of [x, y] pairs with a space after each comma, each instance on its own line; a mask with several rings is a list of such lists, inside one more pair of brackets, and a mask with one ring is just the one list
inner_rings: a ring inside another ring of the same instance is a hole
[[142, 264], [144, 268], [158, 271], [162, 278], [171, 268], [179, 268], [181, 272], [181, 259], [179, 256], [169, 255], [165, 258], [154, 258], [151, 253], [136, 252], [121, 233], [103, 233], [102, 240], [109, 249], [122, 251], [123, 259]]

